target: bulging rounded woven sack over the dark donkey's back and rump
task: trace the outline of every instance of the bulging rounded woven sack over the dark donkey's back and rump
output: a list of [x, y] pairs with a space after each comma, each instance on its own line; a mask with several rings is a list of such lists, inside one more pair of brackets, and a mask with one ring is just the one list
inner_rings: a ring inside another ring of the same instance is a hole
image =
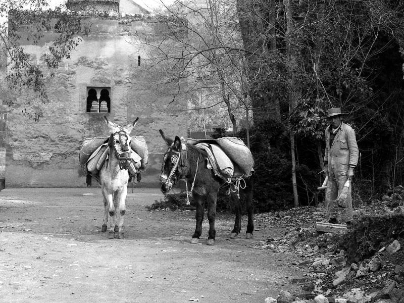
[[208, 143], [212, 146], [221, 147], [224, 153], [234, 164], [233, 177], [249, 177], [254, 171], [254, 158], [251, 151], [244, 142], [236, 137], [223, 137], [218, 139], [192, 139], [189, 138], [187, 144], [196, 145], [199, 143]]

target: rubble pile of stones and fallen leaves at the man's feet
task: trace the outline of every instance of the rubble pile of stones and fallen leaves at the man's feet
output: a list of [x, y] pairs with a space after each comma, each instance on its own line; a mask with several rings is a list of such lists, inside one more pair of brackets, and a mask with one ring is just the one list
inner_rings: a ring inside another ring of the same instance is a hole
[[[400, 206], [380, 215], [385, 206], [378, 203], [374, 209], [356, 211], [356, 223], [345, 234], [317, 233], [315, 222], [327, 221], [324, 209], [258, 214], [256, 225], [286, 231], [252, 247], [293, 252], [292, 264], [306, 272], [306, 279], [292, 280], [300, 291], [282, 291], [265, 302], [404, 303], [404, 216], [397, 212]], [[367, 215], [370, 212], [378, 215]]]

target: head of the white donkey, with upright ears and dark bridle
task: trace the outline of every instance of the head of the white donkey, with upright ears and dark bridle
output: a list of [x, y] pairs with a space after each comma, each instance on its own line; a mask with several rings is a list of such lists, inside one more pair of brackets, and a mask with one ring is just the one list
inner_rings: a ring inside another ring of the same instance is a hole
[[105, 116], [104, 118], [108, 124], [108, 127], [112, 130], [108, 145], [115, 151], [117, 158], [130, 157], [130, 143], [132, 141], [130, 132], [136, 125], [139, 118], [136, 118], [133, 123], [129, 123], [125, 127], [121, 127], [118, 124], [109, 121]]

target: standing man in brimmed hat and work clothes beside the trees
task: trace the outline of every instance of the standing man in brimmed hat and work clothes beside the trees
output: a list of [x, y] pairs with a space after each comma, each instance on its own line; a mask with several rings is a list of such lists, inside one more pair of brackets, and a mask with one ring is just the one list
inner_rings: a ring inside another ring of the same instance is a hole
[[354, 169], [358, 164], [358, 144], [355, 131], [342, 122], [340, 108], [331, 108], [327, 111], [327, 120], [330, 125], [325, 130], [325, 173], [329, 176], [330, 205], [329, 223], [338, 223], [337, 216], [341, 212], [341, 221], [350, 226], [353, 220], [351, 182], [349, 183], [346, 203], [341, 207], [335, 201], [344, 187], [347, 179], [352, 179]]

